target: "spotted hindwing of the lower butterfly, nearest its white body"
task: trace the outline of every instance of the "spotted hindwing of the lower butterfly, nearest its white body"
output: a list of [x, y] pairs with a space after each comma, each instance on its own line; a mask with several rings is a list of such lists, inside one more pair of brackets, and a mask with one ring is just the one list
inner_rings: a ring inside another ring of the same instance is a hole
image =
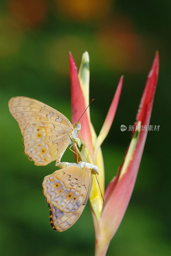
[[49, 204], [62, 212], [76, 212], [87, 203], [92, 174], [87, 167], [72, 165], [46, 176], [42, 185]]

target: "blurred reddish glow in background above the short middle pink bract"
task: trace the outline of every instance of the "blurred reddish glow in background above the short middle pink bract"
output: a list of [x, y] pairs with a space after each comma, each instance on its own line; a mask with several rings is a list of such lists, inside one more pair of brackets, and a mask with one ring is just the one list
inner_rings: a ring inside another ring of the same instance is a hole
[[136, 32], [133, 21], [118, 13], [97, 33], [99, 45], [108, 65], [126, 72], [142, 72], [145, 68], [145, 42]]

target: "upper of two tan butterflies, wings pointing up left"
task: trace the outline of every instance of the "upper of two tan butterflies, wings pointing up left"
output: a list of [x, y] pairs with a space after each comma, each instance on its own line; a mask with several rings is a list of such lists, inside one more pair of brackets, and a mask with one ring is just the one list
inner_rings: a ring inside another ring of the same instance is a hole
[[28, 97], [13, 97], [8, 103], [11, 115], [23, 135], [24, 153], [36, 165], [60, 162], [81, 129], [80, 122], [71, 124], [59, 111]]

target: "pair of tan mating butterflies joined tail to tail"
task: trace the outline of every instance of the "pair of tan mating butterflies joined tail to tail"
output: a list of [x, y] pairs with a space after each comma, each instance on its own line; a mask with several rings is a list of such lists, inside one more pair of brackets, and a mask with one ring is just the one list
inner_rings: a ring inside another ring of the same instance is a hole
[[52, 228], [64, 231], [80, 217], [89, 198], [92, 172], [98, 172], [96, 166], [86, 162], [60, 162], [67, 147], [77, 138], [81, 124], [71, 124], [59, 111], [31, 98], [14, 97], [8, 105], [18, 122], [24, 153], [29, 160], [36, 165], [55, 160], [62, 168], [44, 178], [43, 193], [50, 209]]

